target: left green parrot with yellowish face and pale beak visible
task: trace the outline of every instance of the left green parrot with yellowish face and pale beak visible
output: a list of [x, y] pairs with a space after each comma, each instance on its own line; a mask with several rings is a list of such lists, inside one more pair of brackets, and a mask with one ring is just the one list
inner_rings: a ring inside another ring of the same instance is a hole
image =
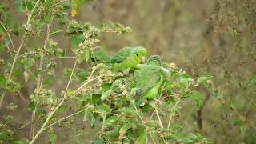
[[134, 70], [139, 63], [145, 62], [146, 48], [142, 46], [124, 47], [110, 59], [114, 71], [123, 71], [128, 68]]

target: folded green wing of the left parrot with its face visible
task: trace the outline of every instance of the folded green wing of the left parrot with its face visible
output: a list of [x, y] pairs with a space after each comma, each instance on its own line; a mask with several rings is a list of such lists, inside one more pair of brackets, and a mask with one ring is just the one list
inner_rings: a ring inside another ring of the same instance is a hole
[[130, 49], [128, 47], [124, 47], [122, 50], [119, 50], [116, 54], [114, 54], [114, 57], [110, 59], [110, 63], [121, 63], [126, 60], [129, 55]]

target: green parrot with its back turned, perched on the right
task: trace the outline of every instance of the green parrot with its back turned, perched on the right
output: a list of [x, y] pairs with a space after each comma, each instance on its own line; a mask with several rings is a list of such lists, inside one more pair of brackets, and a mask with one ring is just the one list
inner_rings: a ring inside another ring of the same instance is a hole
[[170, 72], [162, 67], [158, 55], [152, 55], [147, 64], [138, 66], [140, 70], [134, 74], [135, 103], [137, 106], [142, 106], [148, 100], [158, 97], [158, 90]]

